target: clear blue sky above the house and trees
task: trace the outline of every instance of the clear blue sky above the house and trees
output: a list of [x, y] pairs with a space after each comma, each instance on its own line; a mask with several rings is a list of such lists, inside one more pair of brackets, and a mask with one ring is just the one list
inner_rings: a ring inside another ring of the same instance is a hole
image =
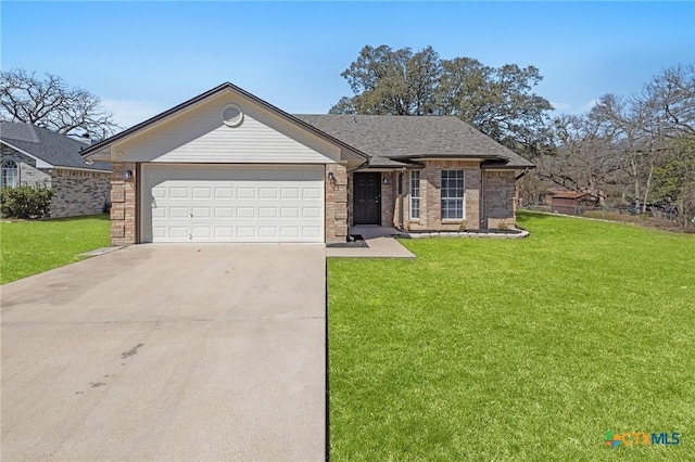
[[365, 44], [535, 65], [557, 113], [695, 62], [695, 2], [11, 2], [1, 65], [99, 95], [125, 127], [223, 81], [326, 113]]

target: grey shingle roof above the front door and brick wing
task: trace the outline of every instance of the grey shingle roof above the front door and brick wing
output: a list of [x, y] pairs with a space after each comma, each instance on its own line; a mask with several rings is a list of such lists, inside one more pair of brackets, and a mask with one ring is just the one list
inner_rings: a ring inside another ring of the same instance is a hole
[[381, 116], [294, 114], [319, 130], [368, 154], [370, 165], [405, 165], [406, 157], [482, 157], [500, 167], [527, 168], [533, 164], [450, 116]]

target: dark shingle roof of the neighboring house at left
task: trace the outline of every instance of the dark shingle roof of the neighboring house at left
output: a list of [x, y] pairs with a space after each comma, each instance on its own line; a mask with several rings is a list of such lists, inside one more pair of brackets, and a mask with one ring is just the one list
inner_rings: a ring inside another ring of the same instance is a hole
[[108, 162], [87, 164], [79, 153], [88, 144], [31, 124], [1, 123], [0, 140], [54, 167], [111, 171], [111, 164]]

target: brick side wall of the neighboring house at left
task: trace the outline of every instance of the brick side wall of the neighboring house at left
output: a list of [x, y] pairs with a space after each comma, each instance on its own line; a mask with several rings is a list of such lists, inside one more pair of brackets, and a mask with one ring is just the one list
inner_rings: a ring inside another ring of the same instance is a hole
[[102, 214], [110, 202], [111, 174], [54, 168], [51, 218]]

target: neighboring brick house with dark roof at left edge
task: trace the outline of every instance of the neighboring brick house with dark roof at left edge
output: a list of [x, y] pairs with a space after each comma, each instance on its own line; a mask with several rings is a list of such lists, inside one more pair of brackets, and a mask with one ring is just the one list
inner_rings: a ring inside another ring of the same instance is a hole
[[0, 124], [2, 187], [48, 188], [51, 218], [101, 214], [111, 191], [111, 164], [89, 164], [80, 151], [88, 144], [24, 123]]

